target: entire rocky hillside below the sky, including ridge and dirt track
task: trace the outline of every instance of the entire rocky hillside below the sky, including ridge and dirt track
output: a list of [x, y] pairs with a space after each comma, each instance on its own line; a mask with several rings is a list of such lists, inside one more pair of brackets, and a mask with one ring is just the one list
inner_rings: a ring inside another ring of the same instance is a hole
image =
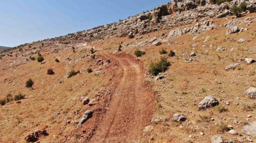
[[[256, 97], [244, 93], [256, 87], [249, 59], [256, 59], [256, 1], [246, 1], [240, 17], [225, 6], [242, 2], [172, 1], [128, 18], [131, 24], [1, 53], [0, 142], [255, 141], [244, 129], [256, 128]], [[137, 50], [145, 53], [136, 57]], [[170, 66], [149, 73], [161, 57]], [[71, 70], [79, 72], [70, 77]], [[33, 89], [25, 87], [29, 78]], [[218, 106], [204, 102], [208, 96]]]

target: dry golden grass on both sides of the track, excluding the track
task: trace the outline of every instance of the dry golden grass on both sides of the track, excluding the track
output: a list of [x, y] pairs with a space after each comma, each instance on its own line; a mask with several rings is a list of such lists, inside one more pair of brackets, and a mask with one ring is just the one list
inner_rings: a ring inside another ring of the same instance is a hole
[[[255, 14], [248, 14], [242, 18], [249, 16], [255, 16]], [[221, 25], [231, 20], [214, 19], [214, 24]], [[192, 23], [189, 26], [194, 25]], [[165, 79], [160, 81], [154, 81], [154, 79], [147, 79], [152, 83], [154, 89], [159, 92], [158, 105], [155, 107], [155, 117], [161, 118], [172, 118], [174, 113], [184, 113], [188, 120], [177, 124], [171, 120], [167, 122], [162, 122], [159, 124], [153, 123], [153, 129], [151, 132], [145, 133], [143, 140], [145, 142], [184, 142], [184, 139], [189, 138], [189, 135], [195, 136], [193, 142], [208, 143], [210, 136], [217, 135], [217, 126], [214, 122], [222, 121], [227, 122], [234, 126], [234, 129], [241, 133], [241, 128], [246, 122], [255, 121], [254, 111], [243, 110], [244, 106], [235, 106], [233, 102], [243, 103], [244, 105], [252, 105], [256, 102], [255, 99], [248, 99], [243, 95], [244, 91], [249, 87], [256, 87], [255, 76], [247, 76], [252, 74], [254, 71], [254, 64], [247, 65], [245, 62], [241, 62], [239, 67], [243, 67], [242, 70], [230, 70], [225, 71], [225, 67], [229, 64], [236, 63], [232, 59], [240, 59], [241, 57], [254, 58], [256, 59], [255, 53], [255, 22], [247, 27], [248, 31], [241, 32], [239, 34], [232, 34], [226, 36], [227, 28], [217, 28], [207, 33], [199, 34], [198, 39], [192, 41], [195, 35], [183, 35], [177, 39], [170, 40], [169, 42], [180, 42], [179, 44], [167, 46], [167, 43], [163, 43], [160, 46], [147, 45], [143, 47], [146, 50], [146, 55], [138, 58], [144, 63], [144, 67], [147, 69], [151, 62], [155, 62], [161, 56], [159, 50], [163, 47], [167, 51], [176, 50], [175, 53], [178, 54], [176, 57], [169, 57], [168, 60], [172, 62], [172, 66], [166, 71]], [[168, 31], [158, 31], [150, 33], [147, 37], [143, 35], [145, 40], [150, 37], [161, 36], [162, 33], [168, 34]], [[250, 36], [253, 34], [253, 36]], [[201, 37], [210, 36], [208, 42], [203, 43], [204, 39]], [[216, 37], [216, 38], [215, 38]], [[243, 37], [246, 42], [238, 43], [238, 39]], [[235, 39], [235, 42], [230, 41]], [[136, 50], [135, 47], [124, 46], [125, 44], [136, 43], [134, 39], [125, 38], [115, 38], [103, 40], [103, 44], [100, 42], [93, 43], [92, 46], [95, 48], [100, 48], [104, 50], [114, 51], [118, 47], [118, 43], [123, 41], [122, 52], [130, 53]], [[140, 40], [139, 40], [140, 41]], [[112, 42], [112, 44], [109, 44]], [[196, 43], [198, 47], [191, 47], [192, 44]], [[213, 44], [214, 46], [210, 48], [209, 46]], [[206, 47], [201, 47], [205, 45]], [[227, 51], [217, 52], [216, 48], [223, 46], [227, 48]], [[79, 50], [82, 47], [78, 47]], [[235, 48], [234, 51], [230, 52], [231, 48]], [[247, 50], [246, 50], [247, 49]], [[44, 49], [45, 51], [45, 49]], [[188, 54], [181, 54], [186, 51]], [[197, 56], [193, 57], [194, 61], [191, 63], [183, 63], [184, 59], [190, 58], [190, 53], [196, 52]], [[44, 54], [42, 52], [42, 54]], [[97, 54], [97, 53], [96, 53]], [[28, 99], [22, 100], [21, 104], [16, 104], [11, 102], [5, 106], [1, 106], [1, 117], [0, 120], [0, 142], [25, 142], [24, 137], [27, 133], [34, 131], [37, 127], [44, 128], [48, 126], [47, 132], [48, 136], [44, 136], [40, 139], [41, 142], [60, 142], [65, 136], [68, 136], [70, 132], [75, 130], [75, 124], [66, 124], [64, 121], [65, 117], [70, 117], [70, 120], [78, 120], [81, 115], [87, 109], [88, 106], [81, 106], [79, 102], [79, 97], [81, 95], [86, 95], [93, 98], [96, 91], [104, 88], [104, 85], [109, 83], [109, 79], [112, 78], [113, 73], [121, 75], [121, 68], [115, 69], [114, 63], [108, 65], [109, 69], [103, 68], [106, 74], [100, 74], [99, 76], [93, 76], [93, 73], [87, 74], [82, 72], [81, 75], [76, 75], [69, 79], [66, 79], [66, 74], [70, 69], [80, 70], [86, 69], [93, 65], [95, 62], [93, 60], [84, 60], [67, 66], [65, 63], [65, 58], [81, 58], [82, 55], [86, 55], [86, 52], [72, 53], [72, 50], [67, 50], [61, 53], [55, 54], [45, 54], [45, 61], [47, 63], [40, 65], [36, 61], [29, 62], [27, 64], [18, 66], [17, 68], [8, 69], [9, 64], [13, 61], [12, 59], [4, 59], [0, 61], [1, 67], [6, 67], [5, 70], [1, 69], [0, 75], [0, 86], [2, 98], [9, 92], [12, 95], [18, 93], [25, 94]], [[218, 58], [218, 56], [220, 58]], [[54, 61], [55, 57], [60, 58], [61, 62], [56, 63]], [[55, 75], [46, 75], [46, 69], [53, 67]], [[98, 68], [98, 66], [94, 66]], [[44, 70], [44, 71], [43, 71]], [[114, 71], [114, 72], [113, 72]], [[213, 74], [213, 71], [217, 75]], [[4, 79], [13, 79], [13, 82], [8, 84]], [[25, 81], [28, 78], [35, 80], [35, 90], [29, 90], [25, 88]], [[59, 84], [58, 81], [64, 80], [64, 83]], [[83, 83], [80, 82], [83, 80]], [[87, 80], [87, 81], [86, 81]], [[44, 83], [42, 84], [42, 81]], [[14, 84], [15, 83], [15, 84]], [[14, 84], [14, 85], [13, 85]], [[76, 86], [77, 85], [77, 86]], [[173, 86], [172, 86], [173, 85]], [[202, 88], [206, 92], [202, 92]], [[225, 92], [221, 93], [220, 91]], [[178, 92], [174, 94], [174, 91]], [[186, 95], [182, 94], [182, 91], [189, 92]], [[220, 101], [221, 106], [225, 106], [229, 111], [219, 113], [213, 109], [206, 111], [197, 111], [198, 103], [208, 95], [214, 95], [217, 100], [223, 99], [223, 101], [229, 101], [230, 105], [224, 105]], [[240, 99], [238, 100], [237, 97]], [[180, 99], [181, 102], [174, 101], [174, 98]], [[63, 111], [61, 110], [63, 109]], [[64, 111], [69, 111], [64, 113]], [[81, 109], [79, 115], [75, 115], [71, 111]], [[54, 117], [53, 114], [56, 112], [61, 112], [60, 115]], [[213, 113], [210, 113], [213, 112]], [[249, 121], [246, 120], [247, 114], [253, 114]], [[201, 115], [208, 115], [213, 117], [215, 121], [210, 121], [209, 125], [202, 121], [199, 117]], [[241, 124], [234, 124], [234, 115], [237, 115], [237, 120]], [[226, 118], [226, 120], [220, 119], [220, 117]], [[93, 120], [95, 117], [93, 117]], [[231, 120], [228, 120], [231, 119]], [[19, 122], [18, 122], [19, 121]], [[34, 122], [34, 123], [32, 123]], [[189, 123], [189, 125], [187, 125]], [[25, 129], [20, 129], [21, 125], [26, 125]], [[86, 127], [85, 127], [86, 128]], [[89, 128], [89, 127], [88, 127]], [[82, 132], [82, 131], [81, 131]], [[203, 132], [204, 135], [201, 136], [199, 133]], [[53, 136], [55, 135], [55, 137]], [[225, 139], [237, 140], [241, 138], [236, 135], [230, 135], [229, 133], [221, 134]], [[245, 137], [247, 135], [243, 134]], [[253, 137], [251, 137], [255, 140]]]

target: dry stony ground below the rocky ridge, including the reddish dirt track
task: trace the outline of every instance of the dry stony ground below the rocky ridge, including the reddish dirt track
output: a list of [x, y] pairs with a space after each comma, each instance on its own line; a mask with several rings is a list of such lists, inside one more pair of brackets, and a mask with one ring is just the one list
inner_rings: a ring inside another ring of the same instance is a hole
[[[255, 16], [245, 14], [235, 20]], [[37, 128], [47, 130], [47, 135], [39, 137], [40, 142], [210, 143], [214, 135], [224, 141], [249, 142], [247, 138], [255, 141], [255, 137], [241, 132], [244, 125], [256, 120], [256, 101], [244, 96], [249, 87], [256, 87], [255, 63], [241, 60], [256, 59], [255, 19], [249, 25], [236, 24], [247, 31], [228, 35], [229, 28], [219, 25], [229, 22], [231, 17], [209, 20], [218, 26], [175, 38], [169, 34], [176, 29], [173, 28], [141, 35], [137, 40], [137, 37], [119, 37], [86, 46], [46, 44], [42, 49], [38, 48], [39, 43], [34, 50], [25, 47], [23, 51], [13, 51], [12, 57], [5, 56], [0, 61], [3, 87], [0, 98], [9, 93], [26, 96], [21, 103], [11, 101], [0, 107], [0, 142], [26, 142], [27, 134]], [[168, 36], [163, 37], [163, 33]], [[245, 41], [239, 42], [241, 38]], [[118, 52], [121, 41], [122, 51]], [[156, 42], [162, 44], [156, 46]], [[97, 50], [95, 59], [91, 58], [91, 47]], [[162, 48], [167, 52], [173, 50], [176, 56], [159, 54]], [[136, 49], [145, 50], [146, 54], [137, 58]], [[31, 54], [37, 51], [44, 56], [44, 64], [25, 60], [27, 55], [37, 56]], [[191, 57], [192, 52], [196, 56]], [[163, 79], [155, 80], [156, 76], [148, 75], [147, 71], [150, 63], [161, 56], [168, 57], [171, 66], [159, 75]], [[107, 59], [111, 61], [108, 64]], [[226, 66], [234, 63], [240, 65], [226, 71]], [[87, 72], [89, 67], [92, 73]], [[47, 75], [48, 68], [53, 68], [55, 74]], [[72, 69], [80, 70], [80, 74], [67, 78]], [[25, 87], [28, 78], [35, 81], [34, 90]], [[97, 103], [82, 105], [81, 96], [97, 99]], [[216, 97], [226, 110], [220, 112], [211, 107], [198, 111], [206, 96]], [[92, 118], [76, 128], [86, 110], [94, 111]], [[183, 114], [186, 120], [175, 122], [174, 114]], [[221, 124], [232, 127], [238, 134], [220, 132]]]

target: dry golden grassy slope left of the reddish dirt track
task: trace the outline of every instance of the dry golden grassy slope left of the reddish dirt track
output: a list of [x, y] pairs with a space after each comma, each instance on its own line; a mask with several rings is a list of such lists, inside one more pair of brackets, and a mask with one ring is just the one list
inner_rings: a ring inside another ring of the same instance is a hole
[[[118, 68], [118, 64], [115, 65], [115, 61], [106, 67], [101, 66], [101, 72], [105, 72], [105, 74], [98, 76], [94, 76], [94, 73], [83, 72], [88, 67], [98, 69], [99, 65], [94, 65], [96, 62], [90, 58], [69, 66], [68, 63], [73, 60], [66, 63], [65, 58], [81, 59], [81, 56], [86, 55], [86, 53], [77, 52], [74, 54], [72, 50], [47, 55], [41, 53], [45, 58], [45, 64], [41, 65], [37, 61], [30, 61], [15, 69], [2, 70], [0, 75], [0, 85], [3, 87], [0, 89], [1, 99], [8, 93], [13, 96], [19, 93], [25, 94], [26, 99], [21, 100], [21, 104], [16, 104], [13, 101], [0, 107], [0, 142], [25, 142], [24, 137], [29, 132], [47, 126], [49, 135], [41, 141], [60, 142], [66, 132], [75, 129], [77, 124], [67, 125], [66, 121], [79, 120], [89, 108], [88, 105], [81, 105], [79, 97], [95, 98], [95, 94], [115, 76], [111, 72], [121, 75], [121, 68]], [[95, 54], [96, 58], [101, 58], [97, 53]], [[61, 62], [56, 63], [55, 57], [58, 57]], [[102, 58], [106, 60], [106, 58]], [[10, 61], [1, 62], [1, 67], [6, 67], [5, 64]], [[48, 68], [53, 68], [55, 75], [47, 75]], [[81, 74], [67, 79], [67, 72], [71, 69], [80, 70]], [[35, 81], [34, 90], [25, 88], [25, 82], [28, 78]], [[12, 83], [8, 84], [9, 81], [4, 81], [4, 79], [10, 79]], [[60, 84], [59, 81], [64, 82]], [[80, 110], [78, 115], [73, 113], [76, 110]], [[57, 112], [61, 112], [61, 114], [54, 117], [54, 113]], [[67, 120], [64, 120], [65, 117]], [[20, 129], [21, 125], [26, 125], [26, 128]]]

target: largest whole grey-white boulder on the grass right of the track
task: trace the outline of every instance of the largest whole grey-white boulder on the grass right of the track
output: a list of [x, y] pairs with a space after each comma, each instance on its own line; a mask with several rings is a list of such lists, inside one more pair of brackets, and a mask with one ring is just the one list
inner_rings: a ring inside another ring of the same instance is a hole
[[206, 110], [210, 107], [217, 106], [219, 101], [214, 96], [207, 96], [198, 105], [198, 110]]

